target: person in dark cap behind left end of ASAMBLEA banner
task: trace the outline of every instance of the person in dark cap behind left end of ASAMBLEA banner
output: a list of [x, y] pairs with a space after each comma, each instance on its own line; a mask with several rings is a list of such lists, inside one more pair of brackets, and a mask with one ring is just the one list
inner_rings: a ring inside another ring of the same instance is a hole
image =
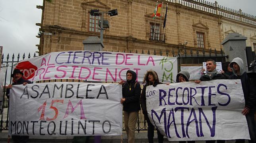
[[[10, 88], [12, 88], [13, 85], [26, 85], [32, 83], [31, 81], [25, 80], [22, 78], [23, 73], [19, 69], [15, 69], [14, 72], [12, 73], [12, 78], [13, 78], [13, 83], [8, 85], [7, 91], [6, 91], [6, 96], [9, 98], [9, 93], [10, 93]], [[12, 140], [14, 143], [27, 143], [29, 141], [29, 136], [27, 135], [12, 135]]]

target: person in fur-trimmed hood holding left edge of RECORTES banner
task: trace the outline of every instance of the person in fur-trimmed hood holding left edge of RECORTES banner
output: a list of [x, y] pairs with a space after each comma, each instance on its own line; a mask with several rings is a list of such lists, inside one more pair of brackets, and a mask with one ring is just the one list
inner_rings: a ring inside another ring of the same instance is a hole
[[[144, 75], [144, 80], [143, 83], [146, 83], [142, 89], [142, 94], [140, 96], [140, 104], [142, 107], [142, 113], [144, 114], [144, 119], [147, 120], [147, 138], [149, 143], [153, 143], [153, 138], [154, 138], [154, 129], [155, 127], [153, 124], [150, 122], [148, 116], [147, 116], [147, 106], [146, 106], [146, 87], [149, 85], [153, 85], [153, 87], [163, 84], [159, 82], [158, 75], [155, 71], [149, 70], [145, 73]], [[157, 138], [158, 138], [158, 143], [163, 143], [163, 135], [157, 130]]]

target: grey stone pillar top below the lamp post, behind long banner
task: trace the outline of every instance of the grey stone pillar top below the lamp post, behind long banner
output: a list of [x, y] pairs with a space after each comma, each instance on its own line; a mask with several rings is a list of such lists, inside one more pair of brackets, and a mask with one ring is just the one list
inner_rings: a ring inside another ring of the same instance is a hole
[[103, 51], [104, 45], [97, 36], [89, 36], [83, 40], [83, 49], [85, 51]]

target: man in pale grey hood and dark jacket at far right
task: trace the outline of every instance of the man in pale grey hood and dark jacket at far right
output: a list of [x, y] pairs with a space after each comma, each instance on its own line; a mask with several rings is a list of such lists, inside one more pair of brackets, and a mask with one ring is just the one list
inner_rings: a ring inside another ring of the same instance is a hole
[[[245, 100], [245, 107], [242, 110], [242, 114], [245, 115], [248, 124], [249, 134], [251, 138], [251, 140], [249, 140], [249, 143], [256, 143], [254, 122], [256, 100], [255, 89], [251, 84], [246, 72], [244, 71], [244, 62], [241, 58], [234, 58], [229, 66], [234, 73], [234, 75], [229, 77], [229, 79], [241, 80]], [[236, 143], [244, 143], [244, 139], [237, 139]]]

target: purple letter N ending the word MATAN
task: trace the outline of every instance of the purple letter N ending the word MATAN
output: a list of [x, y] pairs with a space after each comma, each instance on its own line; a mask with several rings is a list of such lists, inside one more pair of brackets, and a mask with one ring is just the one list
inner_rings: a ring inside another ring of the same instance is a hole
[[204, 114], [203, 109], [198, 108], [198, 110], [199, 110], [200, 137], [204, 137], [203, 130], [202, 130], [202, 115], [204, 116], [204, 119], [206, 120], [206, 124], [209, 127], [209, 130], [211, 132], [211, 137], [215, 136], [216, 109], [217, 109], [217, 106], [211, 108], [211, 111], [212, 111], [212, 114], [213, 114], [213, 120], [212, 120], [212, 126], [210, 126], [210, 123], [209, 123], [206, 115]]

